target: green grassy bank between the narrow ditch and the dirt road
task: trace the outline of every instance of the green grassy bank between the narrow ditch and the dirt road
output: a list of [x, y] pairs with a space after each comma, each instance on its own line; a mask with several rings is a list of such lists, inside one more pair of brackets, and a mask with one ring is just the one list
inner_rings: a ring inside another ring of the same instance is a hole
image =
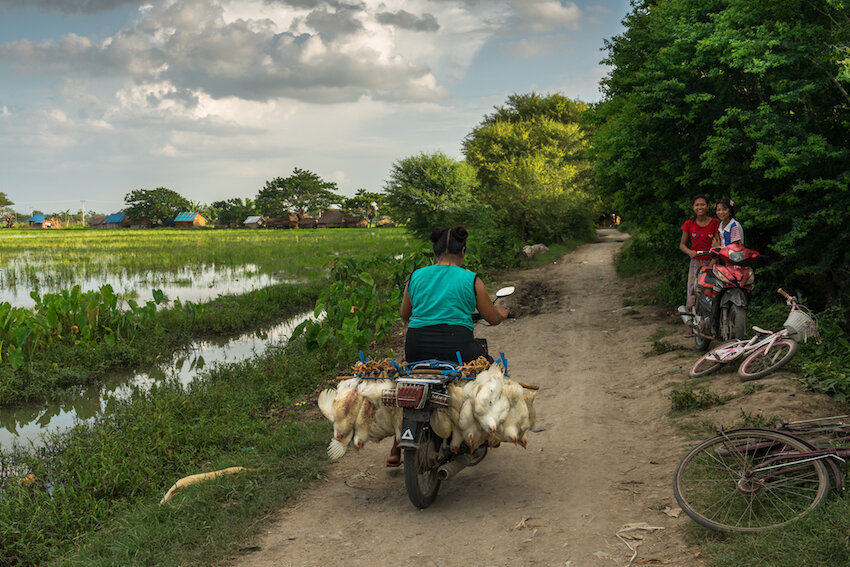
[[[137, 393], [38, 451], [0, 450], [0, 565], [214, 562], [322, 471], [330, 428], [302, 419], [302, 402], [353, 360], [345, 345], [293, 341], [188, 391], [168, 382]], [[260, 470], [158, 506], [179, 478], [239, 465]]]

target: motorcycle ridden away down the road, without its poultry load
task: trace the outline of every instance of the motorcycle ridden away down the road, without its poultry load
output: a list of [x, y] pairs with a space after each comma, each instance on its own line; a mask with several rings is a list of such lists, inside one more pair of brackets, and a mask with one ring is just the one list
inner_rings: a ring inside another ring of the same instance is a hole
[[[513, 287], [500, 289], [496, 301], [514, 290]], [[487, 352], [486, 339], [476, 340]], [[394, 389], [384, 390], [381, 401], [403, 410], [399, 447], [404, 463], [404, 487], [413, 505], [423, 509], [436, 500], [441, 482], [480, 463], [487, 456], [488, 447], [484, 444], [473, 451], [463, 443], [458, 452], [452, 452], [449, 439], [440, 437], [431, 427], [434, 412], [449, 407], [449, 384], [457, 379], [460, 365], [428, 360], [409, 366], [409, 375], [397, 378]]]

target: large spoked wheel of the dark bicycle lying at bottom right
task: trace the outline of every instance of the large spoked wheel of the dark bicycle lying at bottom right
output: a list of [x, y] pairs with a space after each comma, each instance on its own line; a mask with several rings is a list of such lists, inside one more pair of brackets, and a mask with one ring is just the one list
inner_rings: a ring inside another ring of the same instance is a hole
[[796, 457], [811, 450], [776, 431], [726, 431], [684, 456], [674, 473], [673, 494], [688, 516], [712, 530], [756, 533], [782, 526], [829, 495], [826, 465]]

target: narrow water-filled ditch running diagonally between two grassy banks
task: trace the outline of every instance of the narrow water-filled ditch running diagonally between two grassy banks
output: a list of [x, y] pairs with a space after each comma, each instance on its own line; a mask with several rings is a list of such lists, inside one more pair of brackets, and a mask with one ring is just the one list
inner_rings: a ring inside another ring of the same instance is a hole
[[271, 329], [246, 333], [232, 340], [196, 343], [167, 363], [144, 372], [116, 372], [105, 382], [81, 388], [58, 402], [0, 408], [0, 448], [11, 447], [13, 443], [38, 446], [43, 433], [68, 429], [77, 420], [89, 420], [108, 412], [115, 400], [125, 399], [135, 388], [148, 389], [167, 377], [176, 377], [185, 386], [209, 366], [262, 354], [269, 345], [288, 340], [293, 329], [311, 316], [312, 312], [302, 313]]

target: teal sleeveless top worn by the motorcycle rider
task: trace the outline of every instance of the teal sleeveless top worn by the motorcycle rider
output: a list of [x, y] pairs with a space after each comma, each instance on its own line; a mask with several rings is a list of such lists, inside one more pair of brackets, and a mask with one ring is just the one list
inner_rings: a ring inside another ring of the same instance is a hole
[[409, 326], [462, 325], [472, 330], [475, 277], [459, 266], [440, 264], [413, 272], [407, 287], [413, 307]]

